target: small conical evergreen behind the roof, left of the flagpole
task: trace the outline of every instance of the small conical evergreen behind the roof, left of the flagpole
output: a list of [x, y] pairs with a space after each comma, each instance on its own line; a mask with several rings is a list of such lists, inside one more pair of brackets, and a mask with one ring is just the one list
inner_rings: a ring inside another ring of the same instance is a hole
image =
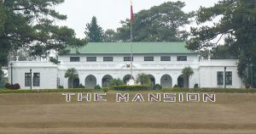
[[92, 17], [90, 23], [86, 24], [84, 34], [88, 42], [103, 42], [103, 30], [97, 24], [95, 16]]

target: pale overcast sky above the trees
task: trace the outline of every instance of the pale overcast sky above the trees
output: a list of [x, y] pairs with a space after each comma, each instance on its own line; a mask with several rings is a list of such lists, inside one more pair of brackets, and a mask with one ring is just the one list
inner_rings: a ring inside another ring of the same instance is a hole
[[[148, 9], [168, 1], [176, 0], [132, 0], [133, 12]], [[202, 7], [211, 7], [218, 0], [181, 0], [186, 3], [185, 12]], [[90, 23], [92, 16], [96, 16], [98, 24], [103, 30], [115, 30], [120, 26], [120, 20], [130, 18], [130, 0], [65, 0], [55, 7], [61, 14], [67, 14], [67, 20], [57, 21], [57, 25], [67, 25], [76, 31], [77, 36], [84, 38], [84, 29]]]

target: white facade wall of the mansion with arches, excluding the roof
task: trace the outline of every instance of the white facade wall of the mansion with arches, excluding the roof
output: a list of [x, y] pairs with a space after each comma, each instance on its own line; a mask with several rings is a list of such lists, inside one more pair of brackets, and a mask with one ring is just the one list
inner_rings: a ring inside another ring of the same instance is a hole
[[[62, 56], [60, 65], [51, 64], [45, 61], [17, 61], [14, 63], [13, 80], [14, 83], [19, 83], [22, 89], [29, 89], [25, 87], [25, 73], [40, 73], [40, 87], [32, 87], [33, 89], [39, 88], [56, 88], [57, 77], [60, 77], [60, 85], [67, 88], [67, 78], [64, 78], [65, 72], [69, 68], [75, 68], [79, 72], [80, 83], [85, 85], [85, 78], [88, 75], [96, 76], [96, 84], [102, 86], [102, 77], [104, 75], [111, 75], [113, 78], [120, 78], [123, 80], [125, 75], [130, 75], [131, 69], [126, 68], [127, 62], [123, 61], [124, 55], [116, 55], [113, 62], [101, 62], [103, 56], [99, 56], [98, 62], [85, 62], [85, 57], [81, 62], [69, 62], [69, 56]], [[129, 56], [129, 54], [127, 54]], [[196, 83], [199, 87], [219, 87], [217, 85], [217, 71], [224, 71], [224, 66], [227, 67], [226, 71], [232, 71], [232, 85], [227, 87], [240, 88], [243, 87], [241, 79], [237, 75], [236, 60], [197, 60], [196, 55], [189, 55], [188, 61], [176, 61], [177, 55], [171, 56], [171, 61], [160, 61], [160, 55], [154, 56], [154, 61], [144, 62], [144, 55], [137, 55], [133, 62], [133, 76], [140, 73], [153, 75], [156, 84], [160, 84], [160, 78], [163, 75], [171, 75], [172, 87], [177, 84], [177, 78], [182, 74], [184, 67], [190, 66], [194, 70], [194, 75], [189, 78], [189, 87], [194, 87]], [[141, 60], [141, 61], [140, 61]], [[65, 62], [63, 62], [65, 61]], [[10, 79], [9, 67], [9, 82]]]

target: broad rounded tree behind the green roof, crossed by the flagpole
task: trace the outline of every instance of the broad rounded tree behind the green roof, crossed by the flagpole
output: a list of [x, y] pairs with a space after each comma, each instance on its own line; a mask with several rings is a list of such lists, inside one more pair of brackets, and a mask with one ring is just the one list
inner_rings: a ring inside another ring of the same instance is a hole
[[[180, 28], [190, 23], [193, 13], [184, 13], [185, 3], [180, 1], [162, 3], [135, 14], [132, 34], [135, 42], [175, 42], [184, 41], [189, 35]], [[119, 41], [130, 41], [130, 20], [121, 21], [117, 29]]]

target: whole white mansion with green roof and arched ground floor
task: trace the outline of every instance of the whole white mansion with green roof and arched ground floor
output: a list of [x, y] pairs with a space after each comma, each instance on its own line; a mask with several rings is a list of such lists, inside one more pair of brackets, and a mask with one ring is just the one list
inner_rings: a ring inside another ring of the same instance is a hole
[[[186, 49], [185, 42], [133, 42], [133, 77], [145, 73], [153, 84], [162, 87], [187, 87], [182, 75], [184, 67], [190, 66], [194, 75], [189, 77], [189, 87], [244, 87], [237, 75], [237, 60], [201, 60], [198, 53]], [[9, 82], [19, 83], [21, 89], [46, 89], [68, 85], [86, 88], [96, 85], [107, 87], [109, 80], [120, 78], [128, 81], [131, 77], [130, 42], [90, 42], [67, 55], [60, 55], [60, 64], [48, 61], [12, 61], [9, 66]], [[67, 69], [78, 70], [79, 78], [68, 80], [64, 77]], [[225, 69], [226, 70], [225, 70]], [[32, 70], [32, 72], [30, 72]], [[11, 71], [13, 73], [11, 78]], [[225, 72], [225, 75], [224, 75]]]

